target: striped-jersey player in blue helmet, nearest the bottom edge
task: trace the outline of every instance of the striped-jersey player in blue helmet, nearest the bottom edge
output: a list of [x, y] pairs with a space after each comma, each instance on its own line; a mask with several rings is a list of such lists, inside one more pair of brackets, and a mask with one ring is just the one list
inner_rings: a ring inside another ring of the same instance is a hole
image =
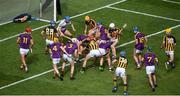
[[117, 91], [117, 78], [121, 77], [123, 80], [123, 84], [124, 84], [124, 95], [127, 95], [127, 76], [126, 76], [126, 68], [128, 65], [128, 61], [126, 58], [126, 53], [125, 51], [121, 51], [120, 52], [120, 57], [119, 60], [116, 61], [114, 64], [116, 64], [116, 70], [115, 70], [115, 75], [113, 78], [113, 89], [112, 92], [116, 92]]

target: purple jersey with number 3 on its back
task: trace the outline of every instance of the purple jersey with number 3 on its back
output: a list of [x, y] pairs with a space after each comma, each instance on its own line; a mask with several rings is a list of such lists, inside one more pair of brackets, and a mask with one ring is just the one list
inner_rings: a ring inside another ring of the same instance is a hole
[[68, 54], [73, 54], [77, 48], [78, 46], [76, 43], [67, 43], [65, 46], [65, 50]]

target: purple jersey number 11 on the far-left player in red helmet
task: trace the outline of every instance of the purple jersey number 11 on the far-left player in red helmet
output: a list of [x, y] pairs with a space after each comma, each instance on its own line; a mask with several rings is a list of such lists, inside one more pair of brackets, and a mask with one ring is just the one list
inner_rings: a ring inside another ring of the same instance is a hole
[[29, 49], [32, 39], [31, 35], [28, 33], [23, 33], [19, 35], [18, 38], [20, 40], [19, 47], [24, 49]]

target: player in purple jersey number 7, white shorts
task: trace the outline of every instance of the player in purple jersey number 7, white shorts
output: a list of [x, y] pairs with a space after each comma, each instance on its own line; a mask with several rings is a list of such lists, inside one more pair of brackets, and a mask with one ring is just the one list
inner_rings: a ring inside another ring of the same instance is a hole
[[152, 91], [155, 91], [155, 87], [157, 87], [156, 75], [155, 75], [155, 64], [158, 65], [158, 58], [154, 53], [152, 53], [152, 48], [147, 48], [147, 53], [144, 54], [142, 61], [146, 67], [146, 74], [148, 75], [149, 83], [151, 85]]

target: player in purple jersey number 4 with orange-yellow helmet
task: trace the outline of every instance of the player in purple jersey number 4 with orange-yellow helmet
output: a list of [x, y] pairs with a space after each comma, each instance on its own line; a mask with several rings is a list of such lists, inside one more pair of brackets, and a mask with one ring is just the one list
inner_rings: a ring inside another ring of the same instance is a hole
[[54, 68], [54, 78], [56, 79], [58, 77], [59, 79], [63, 80], [63, 78], [60, 76], [60, 73], [58, 71], [57, 64], [61, 60], [61, 57], [62, 57], [61, 54], [63, 52], [67, 54], [67, 52], [64, 49], [63, 45], [59, 42], [57, 37], [55, 37], [53, 41], [54, 43], [50, 45], [50, 52], [51, 52], [51, 58], [52, 58], [53, 68]]

